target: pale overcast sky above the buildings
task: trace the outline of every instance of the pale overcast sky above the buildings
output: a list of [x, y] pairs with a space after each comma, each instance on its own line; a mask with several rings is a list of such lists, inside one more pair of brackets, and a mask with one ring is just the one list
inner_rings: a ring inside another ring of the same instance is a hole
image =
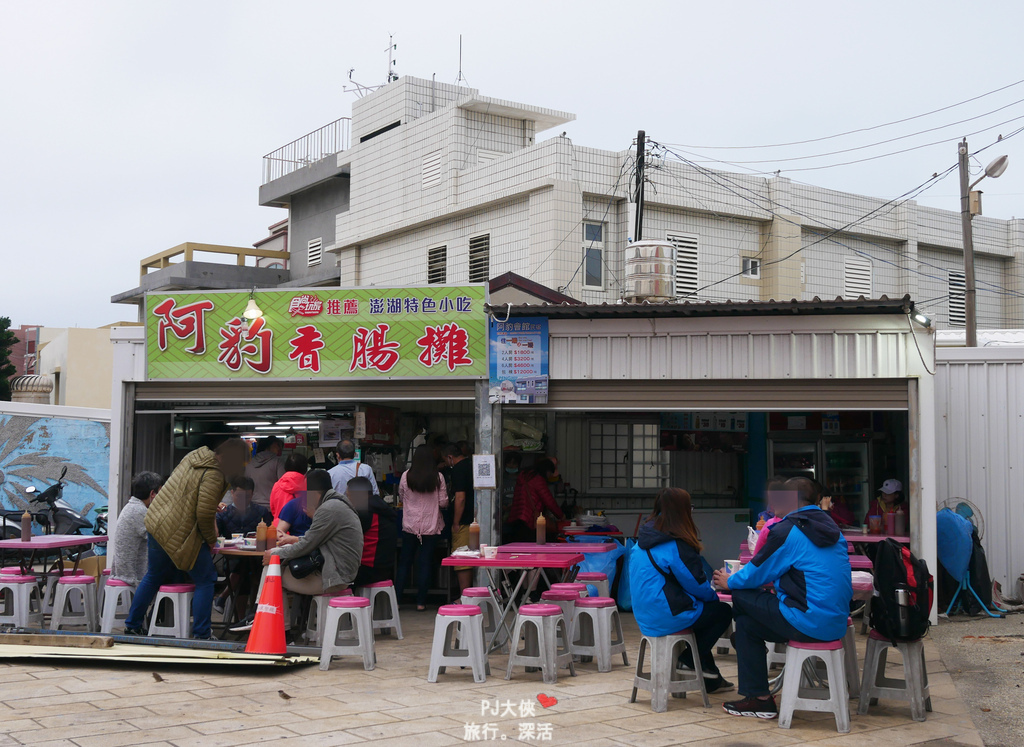
[[[1024, 3], [12, 2], [0, 0], [0, 316], [15, 325], [133, 319], [111, 295], [185, 241], [250, 246], [285, 217], [257, 205], [261, 157], [350, 113], [347, 72], [401, 75], [572, 112], [574, 142], [620, 150], [643, 128], [687, 146], [760, 146], [870, 127], [1024, 79]], [[492, 9], [494, 8], [494, 9]], [[1005, 42], [999, 37], [1005, 35]], [[820, 154], [972, 122], [833, 164], [1024, 125], [1024, 84], [901, 125], [724, 160]], [[562, 128], [559, 128], [559, 132]], [[548, 132], [541, 139], [557, 135]], [[691, 149], [692, 150], [692, 149]], [[986, 180], [987, 215], [1024, 217], [1024, 134]], [[795, 179], [894, 197], [955, 163], [945, 142]], [[977, 168], [977, 167], [976, 167]], [[784, 172], [785, 173], [785, 172]], [[920, 201], [957, 206], [955, 174]]]

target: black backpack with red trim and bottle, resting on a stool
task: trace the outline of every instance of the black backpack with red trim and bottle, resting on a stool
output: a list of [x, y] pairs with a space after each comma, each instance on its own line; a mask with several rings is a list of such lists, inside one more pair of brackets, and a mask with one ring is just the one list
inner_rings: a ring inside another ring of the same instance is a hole
[[[894, 539], [878, 544], [874, 590], [877, 595], [871, 599], [874, 630], [889, 640], [916, 640], [928, 632], [934, 595], [928, 564]], [[899, 604], [901, 596], [906, 598], [905, 607]]]

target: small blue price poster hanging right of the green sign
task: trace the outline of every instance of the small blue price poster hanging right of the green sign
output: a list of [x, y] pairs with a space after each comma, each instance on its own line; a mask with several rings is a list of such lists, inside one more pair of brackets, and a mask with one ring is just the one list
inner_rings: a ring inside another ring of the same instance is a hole
[[490, 322], [492, 403], [548, 402], [548, 320], [513, 317]]

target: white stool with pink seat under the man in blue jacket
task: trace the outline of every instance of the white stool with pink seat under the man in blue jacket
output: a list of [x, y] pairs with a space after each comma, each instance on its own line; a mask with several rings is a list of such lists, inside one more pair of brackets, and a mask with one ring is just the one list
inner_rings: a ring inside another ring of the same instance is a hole
[[[845, 652], [842, 640], [808, 644], [791, 640], [786, 646], [785, 672], [782, 675], [782, 702], [778, 707], [778, 725], [790, 729], [793, 712], [820, 711], [836, 716], [840, 734], [850, 732], [850, 694], [847, 691], [843, 664]], [[827, 688], [805, 687], [802, 683], [804, 662], [820, 659], [825, 665]]]

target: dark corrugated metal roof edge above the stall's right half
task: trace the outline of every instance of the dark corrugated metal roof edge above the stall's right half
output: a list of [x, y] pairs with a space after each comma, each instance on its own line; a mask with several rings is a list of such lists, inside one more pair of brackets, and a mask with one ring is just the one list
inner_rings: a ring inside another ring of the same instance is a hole
[[649, 319], [658, 317], [784, 317], [787, 315], [908, 314], [909, 295], [902, 298], [864, 298], [809, 301], [703, 301], [680, 303], [521, 303], [487, 305], [496, 317], [547, 317], [548, 319]]

